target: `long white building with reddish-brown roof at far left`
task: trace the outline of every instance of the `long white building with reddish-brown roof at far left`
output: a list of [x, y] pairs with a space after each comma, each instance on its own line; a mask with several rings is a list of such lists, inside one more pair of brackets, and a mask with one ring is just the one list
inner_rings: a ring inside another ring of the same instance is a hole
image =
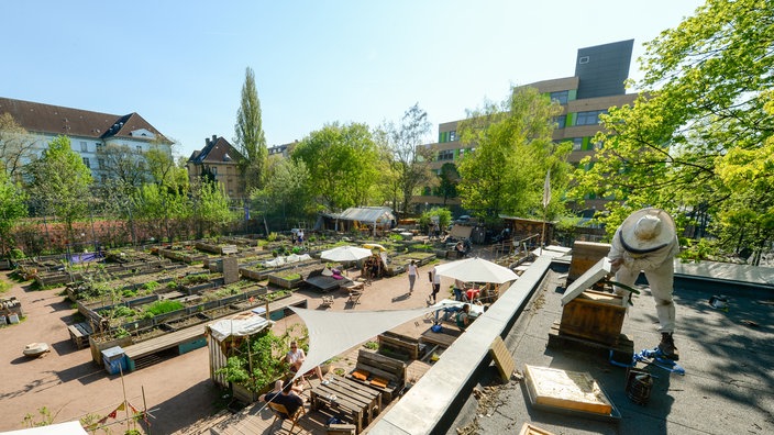
[[0, 114], [8, 113], [23, 127], [32, 142], [22, 165], [40, 156], [57, 136], [67, 136], [70, 146], [91, 169], [95, 183], [110, 177], [100, 150], [107, 146], [126, 147], [142, 158], [145, 152], [159, 149], [172, 158], [172, 141], [137, 113], [117, 115], [88, 110], [0, 98]]

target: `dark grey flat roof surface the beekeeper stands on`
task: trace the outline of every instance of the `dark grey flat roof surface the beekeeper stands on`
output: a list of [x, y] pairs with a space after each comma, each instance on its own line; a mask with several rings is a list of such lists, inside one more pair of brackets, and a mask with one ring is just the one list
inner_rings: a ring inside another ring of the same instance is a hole
[[[555, 265], [556, 266], [556, 265]], [[703, 268], [708, 265], [704, 265]], [[686, 268], [690, 269], [690, 268]], [[519, 372], [526, 365], [587, 371], [602, 387], [620, 419], [595, 419], [554, 412], [531, 404], [526, 384], [502, 383], [494, 365], [476, 373], [480, 394], [464, 399], [447, 434], [518, 433], [530, 423], [554, 434], [772, 434], [774, 433], [774, 289], [739, 286], [750, 276], [723, 265], [725, 278], [710, 275], [675, 279], [678, 365], [685, 375], [652, 364], [637, 368], [654, 378], [646, 404], [634, 403], [624, 391], [627, 369], [609, 361], [608, 350], [588, 346], [551, 346], [549, 332], [562, 316], [566, 272], [554, 267], [505, 337]], [[771, 269], [763, 270], [770, 274]], [[765, 275], [764, 274], [764, 275]], [[765, 279], [763, 280], [765, 282]], [[728, 311], [710, 305], [714, 295], [728, 298]], [[622, 333], [639, 353], [659, 341], [657, 319], [649, 290], [634, 295]], [[458, 430], [462, 430], [458, 432]]]

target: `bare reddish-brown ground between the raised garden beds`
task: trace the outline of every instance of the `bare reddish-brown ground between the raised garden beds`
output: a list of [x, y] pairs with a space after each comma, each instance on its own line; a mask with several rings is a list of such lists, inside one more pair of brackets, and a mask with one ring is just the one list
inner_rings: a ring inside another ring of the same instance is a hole
[[[408, 277], [401, 274], [392, 278], [375, 280], [366, 287], [357, 311], [408, 309], [425, 306], [431, 291], [427, 271], [431, 265], [419, 270], [413, 294], [408, 294]], [[358, 272], [355, 272], [357, 275]], [[351, 277], [353, 277], [351, 275]], [[424, 279], [423, 279], [424, 278]], [[13, 282], [8, 272], [0, 279]], [[452, 281], [444, 278], [442, 289]], [[322, 294], [313, 290], [299, 290], [309, 298], [308, 306], [318, 309]], [[332, 311], [353, 310], [346, 304], [343, 291], [330, 293], [334, 297]], [[217, 389], [210, 380], [209, 357], [206, 347], [174, 356], [162, 362], [133, 372], [109, 375], [104, 367], [97, 366], [87, 347], [77, 349], [69, 338], [67, 325], [73, 324], [76, 312], [63, 289], [33, 291], [30, 282], [16, 283], [2, 297], [15, 295], [22, 303], [24, 319], [21, 323], [0, 327], [0, 401], [2, 416], [0, 431], [24, 427], [24, 416], [33, 421], [43, 416], [38, 410], [45, 408], [53, 423], [84, 419], [87, 415], [103, 417], [114, 411], [124, 399], [136, 410], [146, 408], [152, 414], [150, 432], [153, 434], [190, 434], [188, 428], [200, 419], [223, 409], [224, 391]], [[439, 294], [439, 299], [444, 295]], [[275, 328], [281, 333], [286, 327], [300, 323], [296, 315], [277, 322]], [[45, 342], [52, 352], [31, 359], [22, 355], [29, 343]], [[111, 433], [123, 433], [128, 428], [122, 421], [125, 411], [119, 411], [109, 427]], [[130, 425], [134, 428], [133, 425]], [[148, 433], [146, 425], [136, 428]]]

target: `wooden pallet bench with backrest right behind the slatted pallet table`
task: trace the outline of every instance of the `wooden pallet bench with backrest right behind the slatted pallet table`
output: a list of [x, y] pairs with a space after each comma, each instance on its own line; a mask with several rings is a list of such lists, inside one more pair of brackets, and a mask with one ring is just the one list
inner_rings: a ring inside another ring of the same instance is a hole
[[[355, 372], [367, 372], [368, 375], [366, 379], [358, 379]], [[406, 362], [371, 350], [360, 349], [355, 370], [346, 375], [346, 378], [379, 391], [382, 403], [386, 405], [406, 386]], [[375, 384], [374, 381], [377, 381], [377, 378], [386, 380], [387, 384], [385, 387]]]

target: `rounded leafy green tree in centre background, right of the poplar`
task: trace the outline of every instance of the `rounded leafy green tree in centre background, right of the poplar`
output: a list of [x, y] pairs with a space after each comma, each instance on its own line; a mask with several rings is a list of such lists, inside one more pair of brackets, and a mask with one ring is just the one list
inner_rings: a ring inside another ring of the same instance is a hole
[[368, 203], [379, 155], [368, 126], [333, 123], [305, 137], [291, 157], [305, 163], [310, 193], [328, 210]]

